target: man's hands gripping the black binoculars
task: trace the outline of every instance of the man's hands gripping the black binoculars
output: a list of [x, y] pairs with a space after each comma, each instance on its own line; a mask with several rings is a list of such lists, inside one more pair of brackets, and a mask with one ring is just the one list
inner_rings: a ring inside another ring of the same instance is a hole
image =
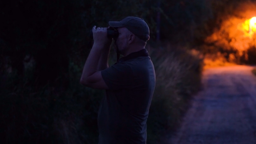
[[100, 46], [102, 48], [107, 47], [109, 48], [113, 38], [108, 37], [108, 32], [107, 28], [97, 28], [94, 26], [92, 28], [92, 33], [93, 33], [93, 40], [94, 44], [97, 46]]

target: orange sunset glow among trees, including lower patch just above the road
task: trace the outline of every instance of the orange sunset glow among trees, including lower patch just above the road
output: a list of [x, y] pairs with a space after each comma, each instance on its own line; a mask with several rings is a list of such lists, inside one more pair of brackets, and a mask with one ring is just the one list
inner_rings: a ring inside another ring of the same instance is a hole
[[[247, 17], [247, 18], [246, 18]], [[205, 43], [214, 44], [215, 48], [221, 48], [226, 51], [236, 51], [233, 53], [220, 53], [217, 55], [207, 55], [204, 59], [206, 65], [212, 66], [213, 63], [220, 65], [226, 61], [235, 63], [237, 58], [248, 60], [248, 49], [256, 46], [256, 15], [248, 17], [244, 15], [244, 18], [229, 17], [221, 24], [220, 29], [216, 29], [215, 32], [205, 39]], [[228, 55], [228, 60], [225, 56]], [[214, 62], [212, 62], [214, 61]], [[223, 64], [224, 65], [224, 64]]]

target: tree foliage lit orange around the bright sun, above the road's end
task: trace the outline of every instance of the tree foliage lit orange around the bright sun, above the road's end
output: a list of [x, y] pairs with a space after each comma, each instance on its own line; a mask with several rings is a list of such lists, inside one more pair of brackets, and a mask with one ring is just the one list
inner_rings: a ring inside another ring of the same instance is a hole
[[[254, 63], [252, 59], [248, 59], [248, 56], [252, 55], [250, 47], [255, 45], [255, 36], [248, 36], [246, 29], [249, 25], [245, 26], [244, 23], [255, 16], [255, 2], [255, 0], [211, 1], [213, 18], [198, 27], [195, 45], [198, 45], [199, 50], [204, 54], [221, 55], [221, 59], [223, 58], [227, 63]], [[220, 64], [222, 65], [223, 62]]]

